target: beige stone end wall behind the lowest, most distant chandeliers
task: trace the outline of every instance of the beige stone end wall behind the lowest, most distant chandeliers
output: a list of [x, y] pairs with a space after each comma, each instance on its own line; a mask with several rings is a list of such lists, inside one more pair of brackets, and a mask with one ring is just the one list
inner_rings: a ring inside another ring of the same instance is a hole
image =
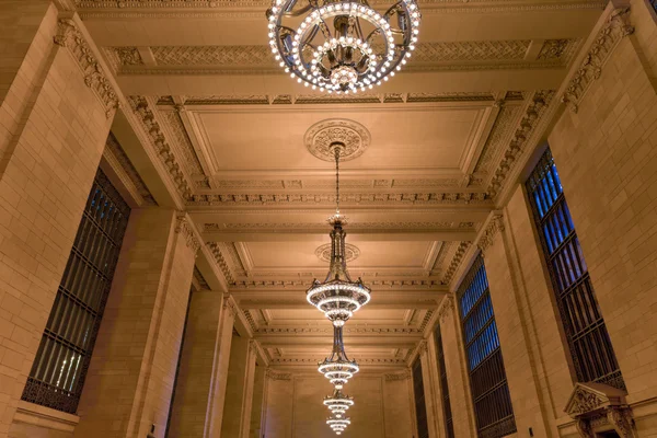
[[[360, 438], [411, 438], [411, 379], [387, 380], [384, 376], [357, 374], [344, 389], [354, 397], [348, 411], [351, 425], [346, 436]], [[290, 380], [267, 381], [265, 425], [266, 438], [334, 438], [325, 424], [328, 410], [324, 395], [333, 387], [322, 376], [295, 374]]]

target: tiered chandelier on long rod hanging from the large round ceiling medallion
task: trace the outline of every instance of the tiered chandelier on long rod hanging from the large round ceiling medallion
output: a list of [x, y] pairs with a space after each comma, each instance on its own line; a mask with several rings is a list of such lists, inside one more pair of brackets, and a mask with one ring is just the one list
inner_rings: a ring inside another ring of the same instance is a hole
[[331, 150], [335, 157], [335, 215], [328, 219], [331, 231], [331, 265], [324, 281], [314, 280], [306, 292], [306, 299], [320, 309], [335, 326], [343, 326], [354, 312], [367, 304], [371, 290], [358, 281], [351, 280], [347, 270], [345, 238], [343, 230], [346, 219], [339, 214], [339, 157], [344, 143], [334, 142]]

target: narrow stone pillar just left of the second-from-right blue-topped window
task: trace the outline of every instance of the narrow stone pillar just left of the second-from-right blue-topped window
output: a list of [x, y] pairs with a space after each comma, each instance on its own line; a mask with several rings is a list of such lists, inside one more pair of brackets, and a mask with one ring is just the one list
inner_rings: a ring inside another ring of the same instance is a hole
[[442, 299], [438, 314], [440, 333], [442, 334], [445, 368], [447, 369], [454, 435], [457, 437], [475, 437], [476, 426], [474, 423], [465, 351], [463, 349], [461, 320], [452, 295], [448, 295]]

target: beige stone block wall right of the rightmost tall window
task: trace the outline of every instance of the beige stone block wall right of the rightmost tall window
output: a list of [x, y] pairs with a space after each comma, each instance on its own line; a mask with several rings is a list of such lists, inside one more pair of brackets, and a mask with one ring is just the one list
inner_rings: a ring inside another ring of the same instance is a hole
[[[657, 395], [657, 26], [632, 1], [623, 38], [579, 110], [550, 135], [564, 193], [631, 403]], [[637, 405], [635, 415], [646, 407]], [[638, 414], [637, 414], [638, 413]], [[638, 419], [642, 436], [657, 434]]]

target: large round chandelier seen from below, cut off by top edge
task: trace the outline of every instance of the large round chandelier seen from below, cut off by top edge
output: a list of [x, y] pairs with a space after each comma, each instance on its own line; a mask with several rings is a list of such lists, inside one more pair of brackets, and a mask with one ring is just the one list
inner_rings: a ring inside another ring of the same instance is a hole
[[273, 0], [267, 18], [280, 67], [328, 93], [388, 81], [415, 49], [420, 21], [415, 0], [400, 0], [383, 13], [367, 0]]

